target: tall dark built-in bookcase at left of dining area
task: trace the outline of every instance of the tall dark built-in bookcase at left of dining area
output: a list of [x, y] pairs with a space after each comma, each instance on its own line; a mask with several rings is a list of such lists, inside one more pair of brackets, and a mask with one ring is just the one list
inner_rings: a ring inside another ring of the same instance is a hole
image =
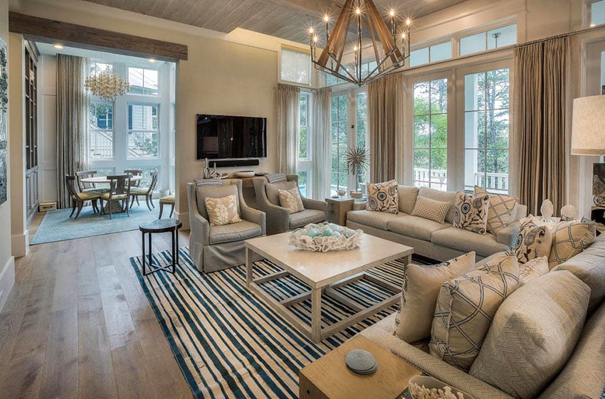
[[27, 220], [38, 211], [38, 51], [25, 44], [25, 189]]

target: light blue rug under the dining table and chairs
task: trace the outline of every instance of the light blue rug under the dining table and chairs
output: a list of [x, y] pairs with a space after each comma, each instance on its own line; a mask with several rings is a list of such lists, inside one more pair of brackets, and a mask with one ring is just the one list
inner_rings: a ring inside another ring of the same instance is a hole
[[[112, 219], [107, 215], [93, 213], [92, 206], [86, 206], [77, 219], [70, 218], [71, 208], [48, 211], [33, 235], [30, 244], [53, 243], [72, 240], [73, 238], [93, 237], [122, 231], [137, 230], [142, 223], [156, 220], [159, 215], [159, 201], [154, 200], [155, 209], [149, 211], [144, 201], [141, 205], [130, 208], [130, 217], [126, 213], [113, 213]], [[78, 210], [76, 209], [76, 212]], [[164, 209], [164, 217], [167, 216]], [[74, 213], [75, 216], [75, 213]]]

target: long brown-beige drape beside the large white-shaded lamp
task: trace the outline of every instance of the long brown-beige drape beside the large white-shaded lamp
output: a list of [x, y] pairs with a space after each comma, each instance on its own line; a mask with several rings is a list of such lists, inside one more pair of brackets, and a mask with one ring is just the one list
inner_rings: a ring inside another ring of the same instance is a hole
[[555, 215], [565, 205], [569, 38], [515, 49], [515, 129], [519, 199], [538, 214], [548, 198]]

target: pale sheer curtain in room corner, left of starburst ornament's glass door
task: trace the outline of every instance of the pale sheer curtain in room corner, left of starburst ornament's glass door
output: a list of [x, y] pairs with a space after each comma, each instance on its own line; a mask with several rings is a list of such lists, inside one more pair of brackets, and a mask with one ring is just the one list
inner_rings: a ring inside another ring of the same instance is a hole
[[330, 196], [332, 174], [332, 87], [313, 90], [311, 132], [313, 134], [313, 197]]

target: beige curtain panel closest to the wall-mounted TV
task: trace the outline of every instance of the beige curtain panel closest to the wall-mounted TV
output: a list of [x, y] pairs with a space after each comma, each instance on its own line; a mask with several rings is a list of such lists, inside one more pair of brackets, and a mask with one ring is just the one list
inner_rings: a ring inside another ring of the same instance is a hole
[[300, 88], [280, 84], [277, 96], [278, 171], [283, 174], [295, 174], [300, 123]]

